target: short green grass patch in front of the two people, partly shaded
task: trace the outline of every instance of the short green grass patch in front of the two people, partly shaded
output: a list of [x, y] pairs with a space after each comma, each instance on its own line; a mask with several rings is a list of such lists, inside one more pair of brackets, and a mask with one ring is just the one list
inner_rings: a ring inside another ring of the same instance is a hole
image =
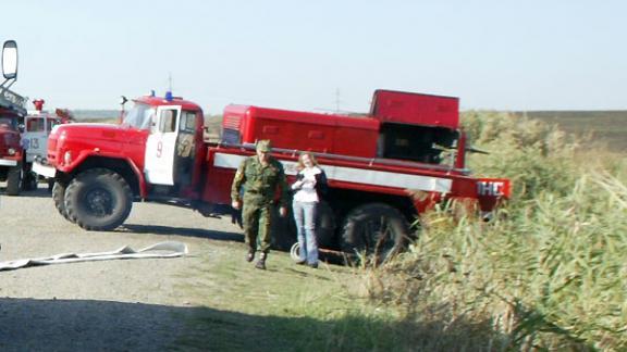
[[314, 271], [273, 252], [262, 272], [234, 252], [219, 254], [218, 264], [202, 263], [197, 268], [202, 279], [181, 287], [199, 306], [177, 341], [181, 350], [388, 351], [403, 345], [397, 340], [408, 332], [405, 324], [395, 311], [359, 298], [362, 282], [354, 269], [322, 265]]

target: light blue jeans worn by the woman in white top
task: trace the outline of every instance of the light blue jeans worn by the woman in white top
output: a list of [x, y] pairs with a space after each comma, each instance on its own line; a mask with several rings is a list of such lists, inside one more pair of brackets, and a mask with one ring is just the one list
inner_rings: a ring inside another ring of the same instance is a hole
[[300, 244], [300, 261], [318, 264], [318, 240], [316, 239], [316, 211], [318, 203], [292, 202], [294, 221]]

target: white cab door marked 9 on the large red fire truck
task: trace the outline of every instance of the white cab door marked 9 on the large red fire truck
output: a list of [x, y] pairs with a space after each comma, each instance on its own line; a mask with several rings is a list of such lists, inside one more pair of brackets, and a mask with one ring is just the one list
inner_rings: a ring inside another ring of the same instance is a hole
[[181, 106], [159, 106], [146, 142], [144, 173], [152, 185], [174, 186], [174, 153]]

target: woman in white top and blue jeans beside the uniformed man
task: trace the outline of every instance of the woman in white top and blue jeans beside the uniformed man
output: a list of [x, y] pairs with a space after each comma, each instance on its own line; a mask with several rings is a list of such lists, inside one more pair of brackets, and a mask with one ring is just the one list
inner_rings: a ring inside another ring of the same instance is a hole
[[298, 264], [318, 267], [318, 240], [316, 239], [316, 214], [318, 203], [327, 192], [327, 175], [318, 166], [310, 152], [298, 158], [298, 174], [292, 185], [294, 198], [292, 210], [300, 246]]

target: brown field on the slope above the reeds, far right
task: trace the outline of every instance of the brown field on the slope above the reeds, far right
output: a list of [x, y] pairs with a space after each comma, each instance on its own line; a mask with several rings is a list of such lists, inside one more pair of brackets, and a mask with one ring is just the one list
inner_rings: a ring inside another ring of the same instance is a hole
[[576, 136], [591, 134], [592, 142], [611, 151], [627, 151], [627, 111], [531, 111], [517, 112], [530, 118], [557, 124]]

